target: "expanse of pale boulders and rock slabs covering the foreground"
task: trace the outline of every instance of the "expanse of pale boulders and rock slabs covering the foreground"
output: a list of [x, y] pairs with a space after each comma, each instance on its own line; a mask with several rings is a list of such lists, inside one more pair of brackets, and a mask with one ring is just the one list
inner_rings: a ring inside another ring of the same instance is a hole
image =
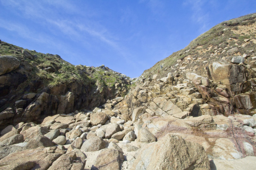
[[[188, 90], [176, 95], [200, 101], [198, 92], [178, 86]], [[126, 96], [109, 101], [111, 108], [7, 126], [0, 137], [0, 169], [210, 169], [255, 161], [256, 115], [204, 114], [210, 110], [205, 104], [185, 108], [173, 96], [147, 96], [148, 106], [131, 114], [123, 108]]]

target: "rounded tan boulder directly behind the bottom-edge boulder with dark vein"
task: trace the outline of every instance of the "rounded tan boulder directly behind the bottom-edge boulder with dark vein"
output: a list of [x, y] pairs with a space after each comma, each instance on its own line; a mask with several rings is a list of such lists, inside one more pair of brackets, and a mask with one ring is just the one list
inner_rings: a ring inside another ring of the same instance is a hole
[[93, 152], [104, 149], [106, 144], [101, 137], [95, 136], [94, 138], [90, 138], [85, 140], [83, 143], [81, 150], [84, 152]]

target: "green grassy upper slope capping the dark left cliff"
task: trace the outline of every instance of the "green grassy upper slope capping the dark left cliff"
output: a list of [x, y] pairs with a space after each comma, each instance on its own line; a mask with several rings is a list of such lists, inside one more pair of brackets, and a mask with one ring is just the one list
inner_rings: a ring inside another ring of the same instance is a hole
[[[72, 65], [64, 61], [58, 55], [43, 54], [36, 51], [29, 51], [34, 55], [34, 59], [24, 57], [22, 54], [23, 48], [8, 44], [1, 43], [0, 55], [11, 55], [21, 61], [23, 73], [28, 74], [30, 81], [38, 77], [43, 80], [46, 86], [56, 86], [61, 83], [69, 83], [71, 81], [78, 81], [82, 84], [95, 84], [103, 87], [112, 87], [115, 83], [122, 83], [120, 75], [113, 71], [107, 71], [100, 68], [89, 69], [83, 65]], [[44, 69], [51, 67], [54, 71], [51, 73]], [[107, 74], [105, 73], [107, 72]], [[129, 86], [128, 84], [125, 84]], [[38, 89], [40, 90], [40, 89]], [[39, 92], [37, 92], [39, 93]]]

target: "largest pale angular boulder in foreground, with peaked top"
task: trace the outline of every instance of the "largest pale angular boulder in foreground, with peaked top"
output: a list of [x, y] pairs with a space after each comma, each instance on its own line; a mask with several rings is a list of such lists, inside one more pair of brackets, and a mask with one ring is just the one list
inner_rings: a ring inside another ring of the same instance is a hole
[[171, 134], [142, 146], [136, 153], [132, 169], [210, 169], [201, 145]]

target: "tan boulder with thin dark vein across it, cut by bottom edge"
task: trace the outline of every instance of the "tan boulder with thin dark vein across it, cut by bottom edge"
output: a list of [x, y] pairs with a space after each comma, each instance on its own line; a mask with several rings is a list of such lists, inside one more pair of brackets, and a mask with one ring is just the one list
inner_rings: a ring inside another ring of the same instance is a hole
[[121, 169], [123, 162], [124, 156], [120, 151], [106, 148], [97, 156], [91, 169]]

